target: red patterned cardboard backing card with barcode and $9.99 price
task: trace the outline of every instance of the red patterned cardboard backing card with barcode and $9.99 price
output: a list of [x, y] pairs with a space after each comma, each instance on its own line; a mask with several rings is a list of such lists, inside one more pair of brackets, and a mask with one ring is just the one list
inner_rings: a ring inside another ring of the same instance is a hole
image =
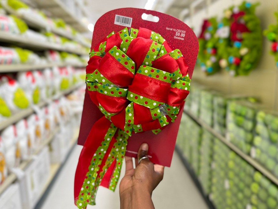
[[[159, 21], [152, 22], [143, 20], [141, 18], [143, 13], [158, 16]], [[135, 8], [115, 9], [105, 13], [98, 19], [94, 26], [91, 50], [112, 31], [118, 32], [125, 28], [125, 26], [114, 24], [116, 15], [132, 18], [132, 28], [148, 28], [149, 30], [155, 31], [156, 33], [162, 35], [173, 50], [179, 49], [182, 52], [186, 60], [186, 64], [189, 67], [189, 76], [190, 78], [192, 77], [199, 50], [198, 39], [191, 28], [189, 28], [182, 21], [163, 13]], [[182, 116], [182, 110], [183, 107], [180, 108], [180, 113], [176, 121], [174, 123], [170, 123], [159, 134], [153, 134], [152, 131], [133, 134], [128, 139], [126, 155], [137, 157], [137, 151], [140, 145], [143, 142], [147, 142], [149, 145], [148, 155], [151, 162], [170, 167], [180, 125], [180, 119]], [[91, 101], [90, 96], [86, 91], [78, 138], [79, 145], [84, 145], [91, 127], [102, 116], [103, 114]]]

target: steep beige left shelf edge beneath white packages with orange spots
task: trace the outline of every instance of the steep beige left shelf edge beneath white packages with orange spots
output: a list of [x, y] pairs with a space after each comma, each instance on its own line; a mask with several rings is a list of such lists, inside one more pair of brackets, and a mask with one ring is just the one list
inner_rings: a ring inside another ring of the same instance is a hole
[[[60, 130], [60, 127], [57, 127], [54, 131], [52, 131], [52, 133], [50, 134], [50, 136], [43, 141], [42, 145], [40, 146], [39, 149], [37, 149], [34, 153], [34, 155], [37, 155], [38, 153], [41, 152], [41, 150], [48, 145], [54, 138], [55, 134], [58, 133], [58, 131]], [[33, 161], [33, 158], [30, 157], [28, 160], [25, 160], [24, 162], [22, 162], [19, 166], [20, 170], [24, 170], [31, 162]], [[5, 189], [8, 188], [9, 185], [11, 185], [15, 180], [17, 179], [16, 174], [12, 173], [10, 174], [5, 180], [4, 182], [0, 185], [0, 195], [5, 191]]]

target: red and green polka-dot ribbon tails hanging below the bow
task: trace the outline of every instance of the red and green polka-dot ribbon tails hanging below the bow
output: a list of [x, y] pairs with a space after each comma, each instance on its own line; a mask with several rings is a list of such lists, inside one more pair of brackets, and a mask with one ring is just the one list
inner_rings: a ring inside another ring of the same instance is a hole
[[127, 139], [128, 135], [118, 130], [105, 116], [93, 125], [80, 153], [75, 174], [74, 200], [78, 208], [95, 205], [99, 185], [115, 190]]

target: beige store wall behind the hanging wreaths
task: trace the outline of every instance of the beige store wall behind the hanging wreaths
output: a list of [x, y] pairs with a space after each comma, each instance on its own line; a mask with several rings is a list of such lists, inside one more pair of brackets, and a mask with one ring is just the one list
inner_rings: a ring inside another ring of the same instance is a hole
[[[202, 22], [205, 18], [212, 16], [222, 17], [225, 8], [231, 5], [239, 5], [242, 0], [216, 0], [209, 7], [191, 16], [187, 24], [194, 28], [198, 35], [201, 31]], [[262, 29], [268, 28], [269, 24], [275, 24], [274, 12], [278, 11], [278, 2], [274, 0], [249, 0], [249, 2], [260, 2], [256, 14], [261, 20]], [[222, 70], [215, 75], [206, 76], [196, 65], [193, 74], [193, 82], [208, 86], [212, 90], [224, 94], [247, 95], [257, 97], [267, 109], [278, 111], [278, 69], [274, 57], [269, 54], [271, 43], [263, 37], [263, 50], [260, 62], [256, 69], [248, 76], [231, 77], [229, 73]], [[194, 84], [193, 84], [194, 85]]]

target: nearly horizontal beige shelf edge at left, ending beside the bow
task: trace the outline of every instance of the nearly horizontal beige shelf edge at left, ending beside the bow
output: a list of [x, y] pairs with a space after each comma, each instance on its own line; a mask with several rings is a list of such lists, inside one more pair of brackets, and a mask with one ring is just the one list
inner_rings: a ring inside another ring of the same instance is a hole
[[[39, 70], [44, 68], [64, 67], [70, 64], [66, 63], [48, 63], [48, 64], [1, 64], [0, 73]], [[74, 68], [85, 68], [87, 64], [70, 65]]]

